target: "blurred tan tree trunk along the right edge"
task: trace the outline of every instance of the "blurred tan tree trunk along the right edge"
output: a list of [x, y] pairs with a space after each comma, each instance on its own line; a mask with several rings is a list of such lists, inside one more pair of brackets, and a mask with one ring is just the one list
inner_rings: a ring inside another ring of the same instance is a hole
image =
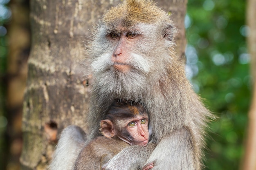
[[251, 75], [253, 77], [253, 96], [249, 110], [249, 124], [247, 128], [247, 141], [242, 170], [256, 170], [256, 0], [247, 1], [247, 25], [249, 36], [247, 38], [248, 51], [251, 56]]

